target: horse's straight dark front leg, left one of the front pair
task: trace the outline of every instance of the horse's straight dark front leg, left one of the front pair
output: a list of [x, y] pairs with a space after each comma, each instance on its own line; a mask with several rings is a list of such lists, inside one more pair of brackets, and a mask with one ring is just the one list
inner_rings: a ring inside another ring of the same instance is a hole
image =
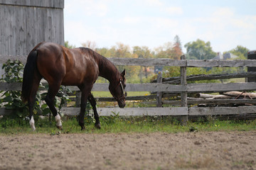
[[80, 108], [80, 115], [79, 115], [79, 125], [81, 127], [81, 130], [85, 130], [85, 108], [86, 108], [86, 104], [87, 104], [87, 98], [90, 94], [92, 86], [90, 86], [90, 87], [78, 86], [78, 87], [82, 91], [81, 106], [80, 106], [81, 108]]

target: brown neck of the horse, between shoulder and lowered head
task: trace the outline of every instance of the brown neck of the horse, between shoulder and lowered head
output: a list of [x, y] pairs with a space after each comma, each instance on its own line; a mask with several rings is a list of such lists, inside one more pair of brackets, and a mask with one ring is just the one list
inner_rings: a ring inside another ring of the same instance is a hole
[[118, 71], [114, 64], [110, 62], [110, 60], [107, 60], [107, 58], [100, 56], [98, 66], [100, 70], [100, 77], [103, 77], [110, 82], [116, 81]]

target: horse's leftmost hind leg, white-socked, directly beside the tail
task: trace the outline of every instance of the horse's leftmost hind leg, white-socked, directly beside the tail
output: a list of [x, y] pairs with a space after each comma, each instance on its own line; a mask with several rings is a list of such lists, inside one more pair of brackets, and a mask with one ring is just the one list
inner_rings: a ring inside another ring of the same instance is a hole
[[36, 130], [35, 120], [33, 119], [33, 106], [35, 105], [36, 92], [38, 91], [38, 86], [40, 84], [41, 79], [42, 77], [39, 74], [35, 74], [35, 76], [33, 77], [33, 85], [28, 97], [29, 125], [31, 125], [33, 131]]

